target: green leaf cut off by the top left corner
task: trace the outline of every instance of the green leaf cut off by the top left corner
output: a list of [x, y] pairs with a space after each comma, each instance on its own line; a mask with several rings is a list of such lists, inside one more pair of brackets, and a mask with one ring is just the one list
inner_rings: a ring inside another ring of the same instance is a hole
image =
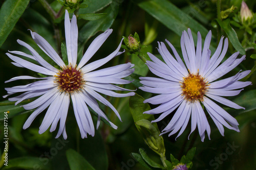
[[8, 0], [0, 9], [0, 47], [27, 8], [29, 0]]

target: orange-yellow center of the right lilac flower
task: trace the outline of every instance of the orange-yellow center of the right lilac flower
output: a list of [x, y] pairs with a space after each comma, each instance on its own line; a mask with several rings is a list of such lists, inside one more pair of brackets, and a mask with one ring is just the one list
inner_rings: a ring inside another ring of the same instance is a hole
[[202, 100], [205, 94], [205, 90], [208, 88], [208, 82], [205, 82], [204, 78], [202, 78], [199, 74], [194, 75], [190, 74], [183, 78], [183, 82], [181, 87], [183, 90], [183, 94], [185, 100], [188, 101], [195, 101], [195, 100]]

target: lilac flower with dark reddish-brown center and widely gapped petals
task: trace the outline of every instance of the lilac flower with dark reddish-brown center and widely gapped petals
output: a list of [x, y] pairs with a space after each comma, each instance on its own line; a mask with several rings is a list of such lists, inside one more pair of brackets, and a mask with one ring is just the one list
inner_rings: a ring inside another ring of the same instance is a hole
[[[24, 124], [24, 129], [28, 128], [35, 119], [35, 117], [49, 106], [44, 120], [42, 120], [41, 126], [39, 127], [39, 134], [44, 133], [50, 126], [50, 132], [54, 131], [59, 122], [59, 130], [56, 138], [62, 134], [63, 138], [67, 139], [65, 123], [70, 101], [72, 101], [73, 104], [75, 117], [82, 138], [87, 137], [87, 134], [94, 136], [95, 133], [93, 120], [89, 112], [88, 106], [91, 107], [98, 114], [97, 128], [99, 127], [100, 117], [103, 117], [104, 119], [108, 120], [108, 122], [114, 129], [117, 129], [117, 126], [111, 123], [110, 120], [99, 108], [96, 100], [110, 107], [115, 112], [117, 117], [121, 120], [120, 115], [114, 108], [114, 106], [108, 100], [104, 99], [103, 96], [99, 93], [114, 97], [125, 97], [134, 95], [134, 92], [116, 93], [112, 91], [129, 90], [115, 86], [113, 84], [130, 83], [130, 81], [123, 80], [121, 78], [132, 74], [132, 72], [134, 71], [134, 68], [132, 68], [134, 64], [126, 63], [95, 70], [106, 62], [110, 61], [115, 56], [123, 53], [119, 52], [122, 40], [117, 49], [108, 57], [87, 64], [88, 60], [90, 60], [91, 57], [97, 52], [99, 47], [103, 44], [103, 42], [109, 37], [111, 33], [112, 30], [109, 29], [96, 37], [88, 47], [88, 50], [83, 55], [79, 64], [77, 65], [78, 28], [76, 23], [76, 16], [73, 15], [73, 18], [70, 22], [69, 13], [66, 10], [65, 36], [69, 62], [69, 65], [66, 65], [58, 56], [58, 54], [54, 51], [52, 46], [44, 38], [42, 38], [37, 33], [31, 32], [31, 36], [37, 43], [37, 45], [60, 67], [60, 69], [57, 69], [54, 66], [50, 65], [48, 62], [46, 62], [29, 44], [21, 40], [17, 40], [17, 42], [20, 45], [26, 47], [32, 55], [18, 51], [12, 51], [10, 53], [7, 53], [7, 56], [14, 61], [13, 64], [18, 67], [25, 67], [30, 70], [39, 72], [40, 74], [49, 76], [45, 78], [19, 76], [5, 82], [7, 83], [20, 79], [41, 79], [40, 81], [36, 81], [34, 83], [23, 86], [5, 88], [8, 94], [5, 95], [4, 98], [17, 92], [24, 92], [23, 94], [20, 94], [16, 97], [9, 98], [9, 101], [17, 101], [15, 104], [18, 104], [26, 99], [40, 96], [35, 101], [23, 105], [26, 110], [36, 108]], [[37, 61], [39, 65], [16, 57], [12, 54], [33, 59]]]

